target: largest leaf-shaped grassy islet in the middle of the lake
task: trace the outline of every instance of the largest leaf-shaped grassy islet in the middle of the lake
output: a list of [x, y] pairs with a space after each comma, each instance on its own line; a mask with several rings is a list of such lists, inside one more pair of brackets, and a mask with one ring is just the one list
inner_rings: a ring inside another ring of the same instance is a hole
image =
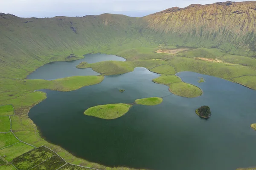
[[132, 105], [130, 104], [105, 104], [90, 107], [84, 115], [95, 116], [102, 119], [115, 119], [125, 115]]

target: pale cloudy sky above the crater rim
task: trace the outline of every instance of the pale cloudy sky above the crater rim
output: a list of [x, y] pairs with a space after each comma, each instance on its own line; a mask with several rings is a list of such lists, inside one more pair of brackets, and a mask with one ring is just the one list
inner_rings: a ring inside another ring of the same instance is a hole
[[[246, 1], [246, 0], [232, 0]], [[18, 17], [84, 16], [103, 13], [143, 17], [171, 7], [209, 4], [217, 0], [0, 0], [0, 12]]]

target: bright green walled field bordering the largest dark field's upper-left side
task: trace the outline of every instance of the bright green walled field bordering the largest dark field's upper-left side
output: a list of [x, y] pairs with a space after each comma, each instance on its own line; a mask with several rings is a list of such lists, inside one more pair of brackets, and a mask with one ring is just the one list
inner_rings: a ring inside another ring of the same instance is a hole
[[20, 142], [11, 147], [0, 150], [0, 156], [5, 157], [5, 159], [10, 162], [17, 156], [20, 156], [32, 149], [34, 149], [34, 147]]

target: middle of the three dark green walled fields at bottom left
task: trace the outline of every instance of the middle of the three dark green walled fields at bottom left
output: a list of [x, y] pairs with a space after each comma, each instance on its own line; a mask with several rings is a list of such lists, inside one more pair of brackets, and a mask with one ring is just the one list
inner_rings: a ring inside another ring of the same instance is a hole
[[37, 165], [31, 170], [57, 170], [59, 167], [64, 165], [66, 162], [59, 156], [53, 156], [52, 158], [44, 161], [43, 163]]

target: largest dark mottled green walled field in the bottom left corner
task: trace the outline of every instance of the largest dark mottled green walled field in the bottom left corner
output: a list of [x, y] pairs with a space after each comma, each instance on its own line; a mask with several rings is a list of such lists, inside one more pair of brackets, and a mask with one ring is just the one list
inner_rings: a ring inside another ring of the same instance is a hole
[[29, 170], [32, 167], [35, 167], [36, 165], [51, 158], [52, 156], [55, 156], [54, 152], [46, 147], [39, 147], [31, 150], [28, 153], [18, 156], [12, 161], [12, 164], [19, 170]]

